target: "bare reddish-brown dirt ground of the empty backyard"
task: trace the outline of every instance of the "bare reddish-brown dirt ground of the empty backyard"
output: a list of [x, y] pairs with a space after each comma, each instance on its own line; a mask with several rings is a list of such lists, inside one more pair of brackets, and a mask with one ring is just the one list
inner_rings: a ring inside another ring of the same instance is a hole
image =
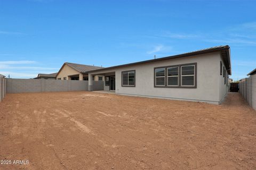
[[0, 169], [256, 169], [256, 112], [96, 92], [8, 94]]

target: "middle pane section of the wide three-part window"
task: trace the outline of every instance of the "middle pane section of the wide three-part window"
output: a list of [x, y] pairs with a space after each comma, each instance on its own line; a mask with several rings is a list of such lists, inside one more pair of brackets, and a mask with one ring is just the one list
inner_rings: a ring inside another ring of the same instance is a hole
[[179, 66], [167, 67], [167, 86], [179, 86]]

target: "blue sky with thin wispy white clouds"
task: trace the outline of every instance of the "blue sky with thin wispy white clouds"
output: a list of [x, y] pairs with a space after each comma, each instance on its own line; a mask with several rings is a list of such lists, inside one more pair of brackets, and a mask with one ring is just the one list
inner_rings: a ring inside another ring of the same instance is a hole
[[0, 74], [64, 62], [114, 66], [229, 45], [231, 78], [256, 67], [256, 0], [0, 0]]

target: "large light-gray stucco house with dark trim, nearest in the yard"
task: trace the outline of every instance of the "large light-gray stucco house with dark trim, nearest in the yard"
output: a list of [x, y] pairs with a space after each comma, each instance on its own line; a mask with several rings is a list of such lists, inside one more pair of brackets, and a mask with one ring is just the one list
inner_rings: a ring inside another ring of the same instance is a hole
[[[211, 47], [154, 60], [91, 69], [84, 71], [83, 77], [84, 74], [89, 77], [89, 91], [93, 91], [93, 77], [101, 75], [105, 77], [103, 89], [120, 95], [220, 104], [227, 96], [228, 75], [231, 75], [230, 47]], [[82, 79], [81, 72], [79, 75]], [[67, 74], [62, 75], [60, 71], [57, 78], [63, 76], [67, 77]]]

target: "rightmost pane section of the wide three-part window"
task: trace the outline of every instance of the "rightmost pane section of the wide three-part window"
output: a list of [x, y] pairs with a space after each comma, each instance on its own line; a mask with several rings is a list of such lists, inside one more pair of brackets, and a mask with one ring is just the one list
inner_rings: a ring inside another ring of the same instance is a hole
[[195, 65], [181, 66], [181, 87], [182, 86], [195, 86]]

